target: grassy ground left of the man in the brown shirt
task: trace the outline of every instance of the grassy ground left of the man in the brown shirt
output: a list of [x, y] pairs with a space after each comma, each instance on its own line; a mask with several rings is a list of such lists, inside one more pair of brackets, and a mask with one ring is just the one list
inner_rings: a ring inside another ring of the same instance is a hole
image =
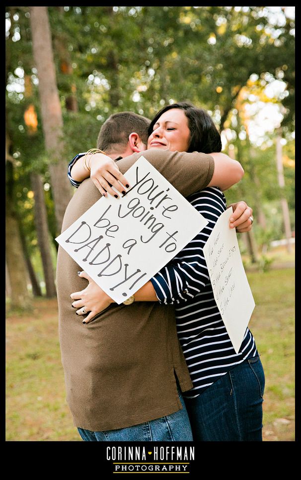
[[66, 403], [57, 300], [6, 320], [6, 440], [80, 441]]

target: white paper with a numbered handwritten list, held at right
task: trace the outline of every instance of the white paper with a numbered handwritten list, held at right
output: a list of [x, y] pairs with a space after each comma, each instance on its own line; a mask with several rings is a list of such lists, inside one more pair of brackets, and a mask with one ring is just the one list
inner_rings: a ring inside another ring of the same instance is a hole
[[229, 228], [232, 208], [218, 219], [203, 249], [215, 301], [238, 353], [255, 307], [243, 268], [235, 229]]

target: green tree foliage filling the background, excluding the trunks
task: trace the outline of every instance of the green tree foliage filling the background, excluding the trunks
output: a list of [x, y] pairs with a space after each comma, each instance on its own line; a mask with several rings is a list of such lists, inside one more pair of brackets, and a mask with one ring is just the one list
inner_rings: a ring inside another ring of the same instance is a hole
[[[95, 147], [100, 126], [115, 111], [133, 110], [152, 117], [169, 102], [189, 99], [208, 109], [221, 130], [235, 130], [232, 119], [237, 115], [237, 99], [252, 75], [257, 78], [257, 90], [263, 91], [275, 80], [285, 82], [286, 88], [277, 102], [283, 107], [282, 128], [288, 142], [284, 155], [294, 160], [291, 133], [295, 129], [295, 21], [285, 8], [48, 7], [64, 116], [66, 168], [75, 153]], [[28, 206], [31, 170], [40, 172], [45, 184], [49, 184], [49, 228], [55, 232], [55, 227], [38, 78], [32, 58], [29, 7], [6, 7], [5, 18], [9, 27], [6, 28], [7, 130], [17, 162], [17, 205], [34, 249], [35, 231]], [[29, 96], [25, 95], [24, 87], [30, 91]], [[69, 108], [70, 95], [76, 96], [77, 111]], [[34, 135], [29, 134], [24, 122], [24, 112], [30, 104], [34, 105], [38, 119]], [[245, 200], [253, 206], [250, 145], [239, 138], [239, 133], [237, 129], [236, 139], [231, 142], [235, 148], [240, 146], [246, 171], [243, 192]], [[269, 138], [273, 143], [273, 133]], [[266, 140], [259, 147], [253, 145], [253, 162], [268, 214], [269, 205], [277, 203], [279, 192], [275, 147]], [[285, 166], [285, 176], [286, 195], [293, 209], [292, 166]], [[240, 199], [241, 196], [236, 196], [239, 192], [239, 188], [231, 189], [227, 192], [228, 200]], [[273, 235], [279, 238], [281, 234], [279, 225], [274, 228], [273, 223]]]

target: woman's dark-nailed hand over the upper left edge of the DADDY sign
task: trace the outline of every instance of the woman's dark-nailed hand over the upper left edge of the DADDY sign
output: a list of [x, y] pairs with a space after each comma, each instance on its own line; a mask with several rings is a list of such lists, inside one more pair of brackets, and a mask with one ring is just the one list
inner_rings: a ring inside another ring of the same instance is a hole
[[90, 166], [90, 177], [99, 192], [106, 196], [106, 192], [118, 198], [118, 194], [112, 186], [120, 193], [125, 194], [129, 188], [127, 179], [119, 171], [117, 164], [108, 156], [95, 153], [88, 159]]

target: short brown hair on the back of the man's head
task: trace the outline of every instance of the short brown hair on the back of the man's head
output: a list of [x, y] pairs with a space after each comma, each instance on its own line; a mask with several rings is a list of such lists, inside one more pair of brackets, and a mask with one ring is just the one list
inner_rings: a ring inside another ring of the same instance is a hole
[[143, 143], [147, 144], [150, 124], [149, 118], [134, 112], [113, 113], [100, 129], [97, 148], [107, 153], [124, 150], [132, 132], [138, 133]]

